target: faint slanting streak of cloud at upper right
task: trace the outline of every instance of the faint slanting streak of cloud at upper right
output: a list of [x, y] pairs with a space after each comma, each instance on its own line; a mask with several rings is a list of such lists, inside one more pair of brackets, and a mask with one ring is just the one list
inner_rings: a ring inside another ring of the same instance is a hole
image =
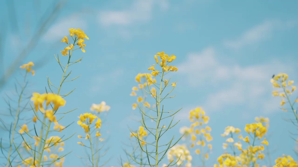
[[253, 44], [271, 37], [274, 31], [288, 29], [296, 25], [296, 21], [265, 21], [244, 32], [236, 40], [226, 40], [224, 45], [228, 48], [239, 49], [245, 45]]

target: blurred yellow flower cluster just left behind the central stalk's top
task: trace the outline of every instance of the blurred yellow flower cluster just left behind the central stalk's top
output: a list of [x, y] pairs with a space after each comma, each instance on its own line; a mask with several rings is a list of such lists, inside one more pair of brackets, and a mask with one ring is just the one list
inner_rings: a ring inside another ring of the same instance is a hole
[[[152, 85], [153, 83], [156, 83], [156, 79], [152, 78], [152, 75], [149, 73], [139, 73], [136, 75], [136, 81], [139, 83], [138, 87], [134, 86], [132, 88], [131, 96], [137, 96], [136, 92], [139, 91], [139, 89], [146, 91], [146, 87]], [[151, 87], [151, 89], [148, 91], [151, 93], [152, 97], [156, 97], [156, 89], [155, 87]], [[144, 92], [143, 92], [144, 93]], [[145, 97], [139, 96], [137, 97], [137, 102], [138, 103], [143, 103], [144, 106], [150, 108], [150, 104], [145, 101]], [[132, 104], [132, 109], [135, 110], [136, 107], [138, 106], [138, 103]]]

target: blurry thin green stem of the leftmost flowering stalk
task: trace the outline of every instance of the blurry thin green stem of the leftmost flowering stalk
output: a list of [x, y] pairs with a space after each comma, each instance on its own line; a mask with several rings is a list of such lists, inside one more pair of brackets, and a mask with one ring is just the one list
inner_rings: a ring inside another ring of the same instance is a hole
[[15, 123], [13, 125], [13, 133], [11, 135], [11, 140], [10, 140], [10, 148], [9, 148], [9, 152], [8, 152], [8, 156], [7, 156], [7, 167], [10, 165], [10, 154], [11, 154], [11, 150], [12, 150], [12, 146], [13, 146], [13, 137], [15, 135], [15, 127], [17, 126], [18, 124], [18, 119], [19, 119], [19, 115], [20, 115], [20, 105], [21, 105], [21, 100], [22, 100], [22, 94], [24, 92], [24, 89], [25, 89], [25, 82], [26, 82], [26, 78], [27, 78], [27, 71], [26, 71], [26, 74], [25, 74], [25, 77], [24, 77], [24, 81], [23, 81], [23, 86], [22, 86], [22, 90], [21, 90], [21, 93], [20, 93], [20, 97], [19, 97], [19, 100], [18, 100], [18, 109], [17, 109], [17, 114], [15, 116]]

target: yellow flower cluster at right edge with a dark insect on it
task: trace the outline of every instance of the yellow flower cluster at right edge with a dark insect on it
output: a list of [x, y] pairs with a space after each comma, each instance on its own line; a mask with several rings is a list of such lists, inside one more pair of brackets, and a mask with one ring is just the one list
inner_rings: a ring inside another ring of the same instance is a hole
[[[296, 86], [293, 86], [292, 84], [294, 81], [288, 80], [288, 75], [285, 73], [279, 73], [278, 75], [274, 76], [270, 82], [272, 83], [274, 88], [281, 88], [282, 91], [272, 91], [273, 96], [280, 96], [285, 97], [287, 100], [289, 100], [289, 95], [291, 95], [296, 89]], [[289, 88], [291, 86], [291, 88]], [[298, 99], [295, 100], [295, 103], [298, 102]], [[282, 98], [280, 105], [283, 106], [285, 104], [285, 99]], [[291, 104], [292, 105], [292, 104]], [[287, 111], [286, 109], [282, 108], [283, 111]]]

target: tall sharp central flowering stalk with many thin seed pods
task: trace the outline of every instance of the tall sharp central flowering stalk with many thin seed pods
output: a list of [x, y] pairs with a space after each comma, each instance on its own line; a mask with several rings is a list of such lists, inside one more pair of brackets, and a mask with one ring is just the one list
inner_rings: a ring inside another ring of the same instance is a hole
[[[159, 58], [158, 58], [159, 57]], [[174, 116], [174, 114], [176, 114], [178, 111], [174, 112], [173, 114], [170, 114], [172, 111], [164, 111], [164, 105], [161, 104], [161, 102], [166, 99], [166, 98], [172, 98], [172, 97], [167, 97], [175, 88], [176, 86], [176, 82], [172, 82], [170, 83], [170, 79], [165, 79], [165, 75], [167, 73], [173, 72], [173, 71], [177, 71], [178, 69], [175, 66], [169, 65], [173, 60], [176, 59], [176, 56], [171, 55], [168, 56], [167, 54], [165, 54], [164, 52], [161, 53], [157, 53], [155, 56], [155, 61], [158, 64], [157, 67], [161, 68], [161, 72], [159, 72], [159, 70], [155, 69], [155, 64], [153, 64], [153, 66], [149, 67], [148, 70], [151, 70], [151, 75], [153, 75], [154, 77], [159, 76], [160, 77], [160, 82], [159, 83], [154, 83], [153, 80], [150, 80], [153, 85], [153, 87], [155, 88], [155, 91], [152, 91], [152, 88], [150, 89], [150, 85], [147, 84], [149, 91], [146, 91], [149, 95], [151, 95], [154, 100], [155, 100], [155, 105], [156, 105], [156, 109], [151, 109], [149, 108], [153, 113], [156, 114], [156, 116], [151, 116], [151, 113], [145, 113], [145, 111], [143, 111], [143, 109], [140, 107], [140, 104], [145, 105], [145, 103], [142, 102], [142, 100], [139, 100], [138, 102], [138, 106], [140, 111], [142, 112], [142, 119], [141, 119], [141, 124], [142, 126], [150, 133], [154, 136], [154, 141], [152, 143], [149, 143], [148, 141], [142, 141], [142, 138], [140, 138], [139, 134], [136, 134], [136, 138], [139, 141], [139, 145], [142, 149], [143, 152], [146, 153], [147, 155], [147, 160], [148, 163], [140, 163], [139, 161], [135, 160], [133, 158], [133, 156], [131, 155], [131, 158], [138, 164], [142, 164], [142, 165], [150, 165], [150, 166], [155, 166], [158, 167], [158, 164], [161, 162], [161, 160], [166, 156], [167, 151], [172, 148], [181, 138], [179, 138], [179, 140], [176, 143], [172, 143], [173, 139], [175, 138], [175, 136], [173, 136], [173, 138], [171, 139], [171, 141], [169, 141], [168, 143], [161, 145], [160, 144], [160, 139], [162, 137], [162, 135], [169, 130], [170, 128], [172, 128], [173, 126], [175, 126], [176, 124], [172, 125], [173, 119], [170, 122], [169, 126], [165, 126], [162, 125], [161, 121], [163, 119], [166, 119], [168, 117]], [[159, 63], [160, 62], [160, 63]], [[147, 75], [148, 78], [149, 75]], [[158, 80], [158, 79], [156, 79]], [[167, 93], [164, 97], [162, 97], [162, 93], [164, 91], [164, 89], [166, 87], [170, 87], [172, 86], [173, 89]], [[146, 107], [148, 108], [148, 107]], [[167, 115], [167, 116], [164, 116]], [[156, 126], [155, 127], [149, 127], [148, 124], [145, 121], [145, 117], [148, 117], [149, 119], [152, 119], [155, 123]], [[131, 133], [133, 133], [133, 131], [131, 130]], [[145, 143], [144, 146], [142, 146], [142, 142]], [[148, 152], [148, 147], [153, 147], [154, 151], [153, 152]], [[164, 150], [160, 151], [160, 149], [164, 147]], [[173, 166], [175, 165], [177, 162], [171, 162], [168, 166]]]

